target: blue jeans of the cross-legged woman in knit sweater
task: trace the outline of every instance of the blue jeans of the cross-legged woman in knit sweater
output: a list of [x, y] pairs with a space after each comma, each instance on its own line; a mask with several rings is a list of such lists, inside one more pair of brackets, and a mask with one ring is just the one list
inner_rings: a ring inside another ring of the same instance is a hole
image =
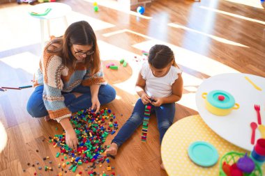
[[[75, 97], [72, 92], [82, 93], [83, 95]], [[89, 109], [92, 106], [91, 91], [89, 86], [79, 85], [74, 88], [72, 92], [62, 92], [64, 103], [72, 113], [75, 113], [82, 109]], [[112, 88], [112, 86], [109, 86], [108, 84], [100, 86], [98, 90], [98, 100], [100, 104], [107, 104], [109, 102], [112, 102], [115, 97], [116, 91], [114, 90], [114, 88]], [[35, 118], [42, 118], [43, 116], [48, 115], [43, 102], [43, 86], [36, 87], [31, 97], [29, 97], [27, 111], [32, 117]]]

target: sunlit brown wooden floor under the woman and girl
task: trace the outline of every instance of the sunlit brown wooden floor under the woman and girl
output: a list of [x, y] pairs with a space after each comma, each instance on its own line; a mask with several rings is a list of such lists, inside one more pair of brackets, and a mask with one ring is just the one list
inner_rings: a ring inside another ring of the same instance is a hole
[[[237, 1], [240, 3], [232, 0], [156, 0], [146, 8], [144, 16], [101, 5], [95, 13], [93, 1], [89, 0], [60, 2], [73, 8], [73, 13], [67, 16], [69, 24], [84, 19], [96, 31], [104, 65], [119, 64], [121, 58], [128, 61], [128, 67], [120, 66], [117, 71], [104, 70], [117, 97], [103, 108], [116, 113], [119, 127], [129, 118], [138, 98], [134, 84], [145, 59], [142, 50], [148, 50], [156, 43], [172, 47], [176, 63], [183, 70], [184, 92], [176, 104], [175, 122], [197, 114], [195, 93], [203, 79], [227, 72], [265, 77], [265, 10], [259, 0]], [[31, 84], [38, 66], [40, 26], [37, 19], [27, 14], [29, 8], [26, 3], [0, 5], [0, 86]], [[54, 35], [61, 35], [65, 30], [60, 20], [55, 19], [51, 26]], [[33, 175], [35, 172], [57, 175], [60, 172], [57, 165], [62, 161], [55, 157], [59, 148], [52, 147], [48, 137], [62, 134], [62, 128], [56, 122], [31, 118], [26, 104], [32, 91], [33, 88], [0, 92], [1, 176]], [[156, 126], [153, 117], [146, 143], [140, 140], [141, 129], [124, 143], [116, 159], [110, 163], [115, 167], [116, 175], [167, 175], [160, 169]], [[106, 144], [113, 137], [109, 135]], [[52, 163], [43, 161], [47, 156]], [[53, 171], [38, 170], [39, 166], [52, 166]], [[82, 175], [88, 175], [84, 170], [86, 166], [78, 167], [77, 173], [82, 171]]]

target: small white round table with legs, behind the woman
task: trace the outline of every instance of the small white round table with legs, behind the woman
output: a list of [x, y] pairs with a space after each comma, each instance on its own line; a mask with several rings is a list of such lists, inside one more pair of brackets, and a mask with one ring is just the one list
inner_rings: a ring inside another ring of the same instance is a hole
[[31, 15], [31, 17], [40, 19], [40, 33], [41, 33], [42, 48], [44, 47], [44, 42], [45, 42], [45, 39], [44, 39], [45, 21], [47, 22], [47, 30], [48, 30], [48, 35], [50, 37], [50, 19], [61, 17], [63, 18], [66, 26], [68, 26], [66, 15], [72, 11], [72, 8], [65, 3], [51, 2], [51, 3], [39, 3], [36, 6], [32, 6], [29, 13], [45, 12], [47, 8], [52, 9], [50, 10], [49, 13], [47, 13], [47, 15], [43, 15], [43, 16]]

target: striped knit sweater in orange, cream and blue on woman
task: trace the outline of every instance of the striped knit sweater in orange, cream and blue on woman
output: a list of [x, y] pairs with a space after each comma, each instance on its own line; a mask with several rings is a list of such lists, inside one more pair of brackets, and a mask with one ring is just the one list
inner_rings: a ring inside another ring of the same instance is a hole
[[92, 84], [105, 84], [103, 79], [103, 70], [91, 75], [90, 69], [84, 64], [77, 63], [74, 69], [69, 69], [62, 64], [62, 58], [44, 51], [40, 58], [40, 67], [35, 74], [33, 85], [44, 85], [43, 102], [50, 115], [50, 118], [58, 122], [63, 118], [72, 115], [70, 110], [64, 104], [64, 97], [61, 92], [70, 92], [80, 84], [82, 86], [91, 86]]

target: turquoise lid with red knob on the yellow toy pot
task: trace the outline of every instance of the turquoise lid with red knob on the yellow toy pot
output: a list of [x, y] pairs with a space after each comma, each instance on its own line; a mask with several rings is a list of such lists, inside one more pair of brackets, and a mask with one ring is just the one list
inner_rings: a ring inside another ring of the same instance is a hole
[[207, 101], [219, 109], [230, 109], [234, 106], [234, 97], [224, 90], [213, 90], [207, 94]]

